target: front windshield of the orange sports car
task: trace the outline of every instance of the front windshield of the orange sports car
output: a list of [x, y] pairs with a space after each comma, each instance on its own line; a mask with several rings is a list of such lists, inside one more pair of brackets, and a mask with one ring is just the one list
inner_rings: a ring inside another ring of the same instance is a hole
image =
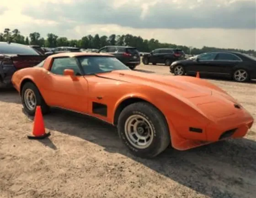
[[77, 59], [86, 75], [108, 73], [115, 70], [131, 70], [116, 57], [83, 56], [77, 57]]

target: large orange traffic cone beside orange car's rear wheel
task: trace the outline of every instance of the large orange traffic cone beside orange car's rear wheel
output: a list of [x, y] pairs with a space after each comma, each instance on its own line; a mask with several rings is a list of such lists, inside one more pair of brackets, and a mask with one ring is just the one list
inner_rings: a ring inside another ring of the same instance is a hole
[[41, 111], [41, 107], [37, 106], [36, 114], [34, 118], [34, 125], [32, 135], [27, 135], [28, 139], [43, 139], [51, 135], [50, 132], [46, 133], [43, 122], [43, 115]]

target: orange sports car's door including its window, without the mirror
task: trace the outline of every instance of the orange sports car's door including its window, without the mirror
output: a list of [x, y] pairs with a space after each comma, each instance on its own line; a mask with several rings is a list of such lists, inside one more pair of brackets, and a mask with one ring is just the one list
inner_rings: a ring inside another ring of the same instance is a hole
[[[65, 69], [73, 69], [75, 78], [64, 76]], [[75, 57], [56, 57], [44, 74], [44, 98], [51, 106], [87, 113], [88, 83]]]

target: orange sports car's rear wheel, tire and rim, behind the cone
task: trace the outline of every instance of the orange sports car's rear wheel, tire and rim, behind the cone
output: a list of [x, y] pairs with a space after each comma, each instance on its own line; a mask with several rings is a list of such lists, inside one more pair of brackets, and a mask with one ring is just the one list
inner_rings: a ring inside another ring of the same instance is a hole
[[44, 102], [42, 95], [34, 83], [28, 82], [24, 84], [21, 90], [21, 101], [28, 115], [35, 115], [38, 105], [41, 106], [43, 114], [49, 111], [48, 105]]

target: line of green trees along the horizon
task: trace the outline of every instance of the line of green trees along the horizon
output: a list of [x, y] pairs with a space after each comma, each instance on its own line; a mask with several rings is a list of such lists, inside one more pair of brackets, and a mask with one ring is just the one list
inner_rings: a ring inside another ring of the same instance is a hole
[[248, 54], [254, 54], [256, 56], [255, 50], [242, 50], [242, 49], [224, 49], [217, 47], [202, 47], [201, 49], [196, 47], [187, 47], [182, 45], [176, 45], [171, 43], [162, 43], [159, 40], [143, 39], [141, 36], [133, 36], [131, 34], [126, 35], [115, 35], [110, 36], [100, 36], [96, 35], [87, 35], [83, 36], [81, 39], [67, 39], [66, 37], [59, 37], [53, 33], [48, 33], [46, 38], [43, 38], [39, 32], [32, 32], [29, 36], [23, 36], [18, 29], [11, 30], [5, 28], [4, 32], [0, 33], [0, 42], [15, 42], [25, 45], [38, 45], [41, 47], [61, 47], [61, 46], [70, 46], [70, 47], [80, 47], [80, 48], [90, 48], [90, 49], [99, 49], [107, 45], [119, 45], [119, 46], [132, 46], [136, 47], [139, 52], [151, 52], [156, 48], [180, 48], [186, 54], [200, 54], [203, 52], [214, 52], [214, 51], [235, 51], [235, 52], [244, 52]]

